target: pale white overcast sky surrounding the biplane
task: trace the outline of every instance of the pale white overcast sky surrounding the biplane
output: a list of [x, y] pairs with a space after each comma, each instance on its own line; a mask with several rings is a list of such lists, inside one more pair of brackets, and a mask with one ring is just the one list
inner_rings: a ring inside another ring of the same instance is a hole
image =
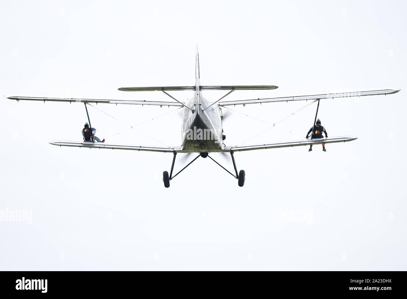
[[[329, 136], [359, 138], [326, 153], [236, 153], [243, 188], [200, 158], [166, 189], [171, 154], [48, 144], [81, 140], [83, 104], [2, 98], [0, 211], [31, 211], [32, 224], [0, 221], [0, 269], [407, 270], [405, 12], [403, 1], [2, 1], [2, 96], [171, 100], [117, 89], [193, 85], [197, 44], [203, 85], [279, 86], [228, 100], [401, 91], [321, 100]], [[304, 105], [232, 107], [225, 144], [268, 127], [241, 113], [274, 123]], [[175, 109], [97, 108], [132, 126]], [[293, 133], [272, 128], [247, 144], [304, 140], [315, 109], [280, 123]], [[129, 127], [89, 111], [107, 143], [181, 145], [178, 111], [118, 135]], [[284, 218], [299, 212], [309, 218]]]

